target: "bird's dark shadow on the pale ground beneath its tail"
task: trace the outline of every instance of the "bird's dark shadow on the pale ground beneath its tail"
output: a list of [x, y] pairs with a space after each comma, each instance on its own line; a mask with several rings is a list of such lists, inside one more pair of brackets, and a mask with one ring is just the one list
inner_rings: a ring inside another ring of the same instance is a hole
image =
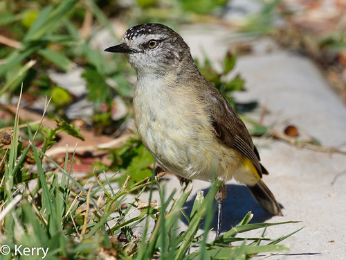
[[[262, 209], [251, 195], [248, 188], [244, 185], [227, 184], [227, 196], [224, 200], [224, 211], [222, 214], [221, 232], [226, 232], [237, 225], [248, 211], [252, 211], [253, 219], [251, 223], [263, 223], [265, 220], [272, 218], [274, 215]], [[204, 195], [208, 193], [208, 189], [202, 190]], [[194, 198], [185, 202], [185, 213], [190, 216]], [[215, 202], [216, 204], [216, 202]], [[281, 206], [281, 205], [280, 205]], [[212, 221], [212, 228], [217, 227], [217, 207], [214, 207], [215, 217]], [[183, 222], [188, 225], [188, 221], [182, 218]], [[202, 220], [203, 221], [203, 220]], [[203, 225], [203, 223], [201, 223]]]

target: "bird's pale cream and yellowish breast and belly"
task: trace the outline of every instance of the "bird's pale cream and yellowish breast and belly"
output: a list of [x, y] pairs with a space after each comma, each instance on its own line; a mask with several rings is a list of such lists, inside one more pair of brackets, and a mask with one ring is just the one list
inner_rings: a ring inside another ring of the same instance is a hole
[[138, 78], [134, 115], [143, 144], [165, 171], [206, 181], [213, 172], [224, 180], [233, 175], [239, 180], [237, 175], [246, 171], [239, 168], [242, 157], [235, 156], [238, 152], [217, 141], [203, 104], [188, 88]]

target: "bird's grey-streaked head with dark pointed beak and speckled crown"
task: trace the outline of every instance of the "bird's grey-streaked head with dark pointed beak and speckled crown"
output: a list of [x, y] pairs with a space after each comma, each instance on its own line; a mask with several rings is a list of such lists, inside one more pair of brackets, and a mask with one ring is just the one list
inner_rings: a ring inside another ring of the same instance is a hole
[[104, 51], [126, 53], [137, 73], [157, 76], [186, 63], [193, 63], [190, 48], [183, 38], [163, 24], [140, 24], [129, 28], [120, 44]]

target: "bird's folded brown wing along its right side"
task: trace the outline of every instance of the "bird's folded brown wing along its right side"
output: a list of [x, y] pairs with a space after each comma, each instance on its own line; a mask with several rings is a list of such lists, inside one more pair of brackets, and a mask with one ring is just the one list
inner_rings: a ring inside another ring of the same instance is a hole
[[215, 87], [208, 87], [202, 97], [206, 109], [211, 115], [212, 127], [215, 135], [226, 146], [238, 150], [253, 162], [258, 174], [268, 173], [260, 164], [260, 155], [253, 145], [253, 141], [242, 119], [235, 113], [227, 99]]

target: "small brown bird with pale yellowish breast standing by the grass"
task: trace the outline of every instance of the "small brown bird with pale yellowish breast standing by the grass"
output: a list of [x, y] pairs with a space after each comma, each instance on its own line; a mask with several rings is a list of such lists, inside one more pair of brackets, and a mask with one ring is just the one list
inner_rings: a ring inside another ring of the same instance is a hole
[[[144, 146], [164, 171], [181, 182], [222, 181], [217, 200], [217, 230], [226, 198], [226, 182], [246, 184], [263, 209], [282, 215], [262, 180], [260, 163], [246, 125], [227, 99], [204, 78], [179, 33], [163, 24], [129, 28], [120, 44], [104, 51], [125, 53], [136, 70], [133, 107]], [[214, 175], [215, 175], [214, 174]]]

